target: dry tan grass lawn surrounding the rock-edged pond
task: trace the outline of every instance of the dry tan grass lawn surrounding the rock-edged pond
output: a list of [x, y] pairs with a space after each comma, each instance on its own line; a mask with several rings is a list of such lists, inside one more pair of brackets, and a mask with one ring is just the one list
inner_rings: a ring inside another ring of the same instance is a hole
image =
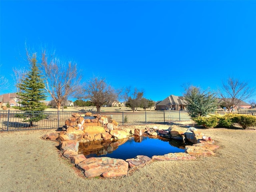
[[[150, 124], [168, 128], [170, 125]], [[142, 126], [140, 126], [142, 127]], [[202, 129], [220, 148], [193, 161], [152, 162], [120, 178], [84, 178], [58, 154], [55, 130], [0, 133], [2, 192], [255, 192], [256, 130]]]

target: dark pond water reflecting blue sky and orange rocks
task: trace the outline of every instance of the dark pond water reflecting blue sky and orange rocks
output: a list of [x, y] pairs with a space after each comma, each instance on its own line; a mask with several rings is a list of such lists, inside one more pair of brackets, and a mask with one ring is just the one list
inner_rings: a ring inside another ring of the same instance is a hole
[[134, 137], [110, 141], [91, 141], [79, 143], [78, 153], [90, 157], [110, 157], [118, 159], [134, 158], [145, 155], [150, 158], [154, 155], [185, 152], [185, 146], [191, 145], [180, 140], [167, 140], [149, 137]]

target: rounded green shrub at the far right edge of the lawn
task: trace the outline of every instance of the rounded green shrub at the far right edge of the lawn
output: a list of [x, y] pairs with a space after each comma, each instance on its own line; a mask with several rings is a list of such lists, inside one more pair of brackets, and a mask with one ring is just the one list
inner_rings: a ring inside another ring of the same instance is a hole
[[256, 117], [252, 115], [234, 114], [232, 122], [238, 123], [243, 129], [256, 126]]

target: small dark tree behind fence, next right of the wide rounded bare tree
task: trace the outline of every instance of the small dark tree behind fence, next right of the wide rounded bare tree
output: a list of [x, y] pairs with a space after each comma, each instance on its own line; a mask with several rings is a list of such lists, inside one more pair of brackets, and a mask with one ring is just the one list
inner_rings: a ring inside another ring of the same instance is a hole
[[126, 100], [125, 105], [130, 107], [133, 112], [135, 112], [135, 110], [137, 111], [137, 108], [140, 106], [143, 94], [144, 91], [139, 91], [137, 88], [134, 88], [133, 90], [131, 87], [126, 88], [123, 96]]

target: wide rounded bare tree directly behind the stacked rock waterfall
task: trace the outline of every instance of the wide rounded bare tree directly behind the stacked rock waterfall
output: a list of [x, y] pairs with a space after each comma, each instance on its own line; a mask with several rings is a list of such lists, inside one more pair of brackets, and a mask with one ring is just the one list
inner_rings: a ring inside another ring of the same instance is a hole
[[[97, 108], [97, 112], [100, 112], [101, 106], [118, 98], [119, 92], [112, 88], [112, 86], [106, 83], [105, 78], [93, 77], [85, 86], [83, 86], [82, 92], [86, 100], [90, 100]], [[82, 94], [81, 94], [82, 95]]]

